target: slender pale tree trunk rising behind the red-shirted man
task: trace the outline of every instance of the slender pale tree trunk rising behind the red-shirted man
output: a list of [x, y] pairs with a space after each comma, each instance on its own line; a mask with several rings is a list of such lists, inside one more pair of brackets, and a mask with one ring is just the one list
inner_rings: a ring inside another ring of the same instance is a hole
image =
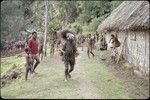
[[46, 0], [45, 1], [45, 32], [44, 32], [44, 56], [46, 56], [47, 54], [47, 13], [48, 13], [48, 9], [47, 9], [47, 6], [48, 6], [48, 1]]

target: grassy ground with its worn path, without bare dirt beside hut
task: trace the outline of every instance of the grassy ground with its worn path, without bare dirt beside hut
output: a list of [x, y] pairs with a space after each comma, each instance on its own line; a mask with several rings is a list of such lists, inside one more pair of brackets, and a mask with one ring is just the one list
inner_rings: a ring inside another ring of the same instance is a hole
[[1, 89], [2, 98], [46, 99], [131, 99], [132, 92], [97, 58], [80, 50], [72, 78], [64, 81], [64, 64], [59, 55], [48, 56], [25, 81], [24, 76]]

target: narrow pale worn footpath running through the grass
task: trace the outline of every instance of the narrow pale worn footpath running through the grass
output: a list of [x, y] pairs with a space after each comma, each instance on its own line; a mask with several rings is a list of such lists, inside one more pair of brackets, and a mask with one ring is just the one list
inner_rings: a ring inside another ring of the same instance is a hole
[[74, 76], [78, 78], [79, 85], [76, 85], [76, 87], [80, 89], [80, 94], [83, 98], [98, 99], [100, 98], [100, 95], [97, 94], [94, 87], [90, 85], [88, 79], [86, 78], [85, 72], [81, 69], [84, 66], [80, 65], [80, 61], [85, 57], [85, 51], [81, 51], [81, 49], [78, 50], [80, 55], [76, 59]]

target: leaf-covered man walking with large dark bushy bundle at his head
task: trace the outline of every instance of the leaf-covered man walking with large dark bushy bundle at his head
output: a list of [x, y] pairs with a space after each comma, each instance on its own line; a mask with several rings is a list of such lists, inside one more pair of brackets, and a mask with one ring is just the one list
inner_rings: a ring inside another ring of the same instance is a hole
[[75, 57], [78, 53], [74, 34], [66, 30], [61, 35], [65, 41], [61, 50], [61, 56], [65, 64], [65, 81], [68, 81], [68, 78], [71, 78], [70, 73], [74, 70]]

